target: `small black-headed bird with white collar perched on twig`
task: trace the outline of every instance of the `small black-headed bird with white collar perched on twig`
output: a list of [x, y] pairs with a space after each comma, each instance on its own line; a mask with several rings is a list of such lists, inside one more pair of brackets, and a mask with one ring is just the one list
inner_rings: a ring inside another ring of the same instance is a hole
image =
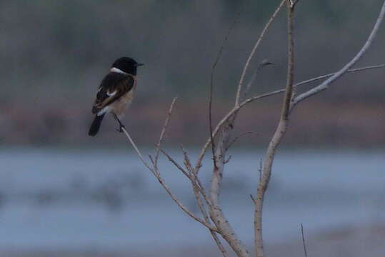
[[96, 94], [94, 106], [92, 106], [92, 114], [96, 114], [96, 116], [89, 128], [89, 136], [95, 136], [98, 133], [101, 121], [109, 113], [114, 115], [118, 121], [118, 131], [123, 132], [124, 125], [120, 119], [134, 98], [136, 69], [142, 65], [129, 57], [121, 57], [114, 61], [109, 74], [101, 81]]

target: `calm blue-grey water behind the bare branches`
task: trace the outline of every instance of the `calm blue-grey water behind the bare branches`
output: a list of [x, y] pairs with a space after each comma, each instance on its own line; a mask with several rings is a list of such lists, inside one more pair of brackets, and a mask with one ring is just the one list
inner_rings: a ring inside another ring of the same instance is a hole
[[[171, 151], [176, 158], [179, 151]], [[191, 153], [196, 155], [195, 151]], [[241, 239], [253, 238], [258, 151], [234, 151], [221, 202]], [[1, 248], [138, 248], [211, 243], [127, 150], [0, 151]], [[209, 160], [201, 179], [209, 182]], [[264, 209], [271, 243], [385, 221], [384, 152], [279, 151]], [[198, 213], [188, 181], [161, 158], [169, 186]]]

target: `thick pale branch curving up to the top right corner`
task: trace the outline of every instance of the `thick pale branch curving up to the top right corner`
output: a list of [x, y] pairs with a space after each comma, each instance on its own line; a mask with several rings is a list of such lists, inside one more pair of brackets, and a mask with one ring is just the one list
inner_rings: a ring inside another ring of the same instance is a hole
[[296, 96], [292, 103], [292, 108], [296, 106], [300, 101], [303, 101], [304, 99], [308, 98], [309, 96], [313, 96], [314, 94], [318, 94], [321, 91], [324, 91], [329, 87], [331, 83], [336, 81], [336, 79], [339, 79], [341, 76], [346, 74], [346, 71], [348, 71], [354, 64], [356, 64], [359, 59], [361, 59], [362, 56], [366, 53], [366, 51], [369, 49], [371, 46], [371, 43], [374, 41], [376, 38], [377, 32], [379, 31], [379, 27], [381, 25], [381, 22], [384, 20], [384, 15], [385, 15], [385, 1], [384, 4], [382, 4], [381, 11], [379, 13], [379, 16], [376, 20], [376, 24], [374, 24], [374, 27], [371, 31], [371, 34], [369, 35], [368, 39], [366, 40], [364, 46], [362, 46], [361, 50], [354, 56], [349, 63], [347, 63], [342, 69], [336, 72], [333, 76], [331, 76], [329, 79], [326, 79], [326, 81], [322, 82], [319, 84], [319, 86], [314, 87], [313, 89], [310, 89], [309, 91], [306, 91], [305, 93], [300, 94], [299, 96]]

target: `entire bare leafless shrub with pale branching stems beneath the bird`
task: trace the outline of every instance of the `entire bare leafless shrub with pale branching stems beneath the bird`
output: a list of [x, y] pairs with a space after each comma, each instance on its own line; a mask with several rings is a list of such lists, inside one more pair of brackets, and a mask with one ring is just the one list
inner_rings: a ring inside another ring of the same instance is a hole
[[[213, 69], [211, 71], [210, 98], [209, 98], [210, 135], [209, 135], [209, 138], [207, 138], [206, 142], [204, 143], [204, 146], [201, 148], [199, 156], [198, 158], [196, 158], [196, 162], [194, 165], [191, 163], [191, 158], [189, 157], [189, 153], [184, 149], [183, 146], [181, 146], [181, 152], [183, 155], [183, 164], [179, 164], [169, 153], [164, 151], [164, 149], [161, 147], [161, 144], [163, 143], [164, 137], [167, 132], [167, 127], [169, 126], [169, 121], [171, 119], [171, 114], [174, 109], [174, 105], [176, 103], [176, 98], [173, 99], [173, 101], [171, 102], [169, 111], [164, 121], [164, 126], [161, 129], [159, 141], [155, 145], [155, 150], [156, 150], [155, 156], [154, 158], [152, 156], [149, 156], [150, 161], [146, 161], [146, 159], [144, 158], [141, 151], [134, 143], [129, 133], [126, 131], [126, 129], [124, 128], [122, 129], [124, 134], [128, 138], [129, 142], [134, 147], [134, 150], [136, 151], [137, 155], [139, 156], [144, 166], [149, 171], [151, 171], [151, 173], [157, 178], [157, 180], [159, 181], [161, 186], [164, 188], [164, 190], [169, 194], [169, 196], [176, 203], [176, 205], [179, 206], [179, 208], [181, 208], [182, 211], [184, 211], [184, 213], [189, 215], [191, 218], [194, 218], [195, 221], [198, 221], [203, 226], [209, 229], [209, 233], [211, 233], [211, 236], [213, 237], [214, 242], [216, 243], [216, 246], [218, 246], [219, 251], [221, 252], [221, 255], [224, 257], [229, 256], [229, 253], [227, 253], [226, 248], [223, 244], [224, 241], [226, 241], [226, 243], [229, 245], [232, 251], [234, 251], [236, 256], [241, 256], [241, 257], [249, 256], [249, 252], [246, 250], [246, 247], [244, 246], [243, 243], [241, 243], [241, 241], [239, 240], [239, 237], [236, 235], [234, 229], [232, 228], [231, 224], [227, 220], [219, 201], [221, 188], [222, 188], [222, 180], [224, 176], [224, 168], [226, 163], [229, 162], [229, 159], [230, 159], [229, 157], [226, 158], [226, 153], [229, 150], [229, 147], [231, 146], [231, 144], [234, 143], [237, 139], [235, 138], [231, 140], [231, 135], [234, 131], [234, 126], [236, 124], [236, 118], [239, 114], [239, 111], [244, 106], [246, 106], [251, 102], [254, 102], [259, 99], [264, 99], [269, 96], [274, 96], [276, 94], [284, 93], [284, 98], [282, 99], [281, 115], [279, 118], [279, 123], [277, 124], [277, 127], [276, 127], [276, 131], [274, 133], [274, 136], [271, 138], [268, 148], [266, 149], [266, 155], [264, 157], [264, 161], [261, 161], [259, 167], [256, 167], [256, 174], [259, 174], [259, 176], [256, 176], [257, 178], [256, 182], [258, 184], [258, 187], [256, 189], [256, 196], [250, 195], [252, 200], [251, 203], [254, 205], [255, 254], [257, 257], [263, 257], [264, 241], [262, 237], [263, 236], [262, 215], [263, 215], [263, 207], [264, 207], [264, 196], [266, 194], [267, 188], [269, 187], [269, 181], [271, 178], [271, 172], [272, 172], [272, 167], [274, 163], [274, 156], [288, 128], [291, 111], [294, 109], [296, 104], [299, 104], [301, 101], [309, 98], [310, 96], [313, 96], [315, 94], [318, 94], [321, 91], [324, 91], [325, 89], [328, 88], [330, 84], [332, 84], [334, 81], [336, 81], [346, 73], [365, 71], [369, 69], [379, 69], [379, 68], [385, 67], [385, 64], [380, 64], [376, 66], [365, 66], [358, 69], [351, 69], [354, 66], [354, 64], [356, 64], [356, 62], [359, 61], [359, 59], [361, 59], [362, 56], [364, 56], [364, 54], [371, 46], [372, 41], [374, 41], [379, 31], [379, 26], [381, 25], [381, 22], [383, 21], [384, 14], [385, 14], [385, 1], [384, 1], [384, 4], [382, 5], [379, 16], [376, 19], [376, 24], [374, 25], [371, 31], [371, 34], [369, 35], [368, 39], [366, 40], [361, 50], [356, 54], [356, 56], [354, 56], [353, 59], [351, 59], [351, 61], [349, 61], [349, 63], [347, 63], [339, 71], [336, 71], [336, 73], [318, 76], [316, 78], [308, 79], [306, 81], [301, 81], [299, 83], [294, 84], [295, 60], [294, 60], [294, 35], [293, 35], [294, 21], [293, 20], [294, 20], [294, 9], [298, 2], [299, 2], [298, 0], [280, 1], [279, 6], [276, 8], [274, 13], [271, 15], [269, 21], [264, 26], [264, 29], [261, 31], [259, 38], [256, 40], [256, 43], [254, 44], [254, 47], [251, 50], [251, 53], [249, 54], [246, 60], [244, 69], [241, 74], [241, 78], [239, 80], [239, 84], [237, 85], [235, 104], [233, 108], [219, 121], [218, 124], [216, 124], [215, 129], [213, 129], [212, 119], [211, 119], [211, 107], [212, 107], [212, 100], [213, 100], [214, 69], [216, 67], [216, 64], [218, 64], [219, 58], [224, 49], [224, 46], [221, 46], [221, 49], [219, 51], [219, 54], [216, 60], [214, 61], [214, 65], [212, 67]], [[262, 61], [259, 64], [256, 71], [254, 71], [254, 74], [251, 76], [249, 84], [247, 84], [246, 88], [243, 89], [244, 80], [246, 78], [246, 72], [249, 70], [251, 59], [254, 57], [254, 54], [256, 53], [256, 50], [259, 48], [261, 41], [264, 38], [264, 35], [269, 30], [269, 27], [271, 26], [272, 22], [274, 21], [276, 16], [279, 14], [279, 11], [281, 10], [282, 6], [284, 6], [285, 3], [287, 6], [286, 10], [287, 10], [287, 28], [288, 28], [287, 29], [288, 63], [287, 63], [286, 86], [284, 89], [279, 89], [276, 91], [271, 91], [268, 93], [259, 94], [259, 95], [251, 96], [247, 98], [249, 89], [251, 88], [251, 85], [254, 83], [254, 80], [256, 79], [257, 72], [260, 71], [267, 64], [270, 64], [268, 61]], [[239, 18], [239, 15], [240, 14], [236, 16], [236, 19]], [[234, 24], [235, 24], [235, 21], [234, 21]], [[229, 34], [234, 27], [234, 24], [229, 29], [229, 33], [225, 38], [225, 42], [229, 37]], [[314, 81], [319, 81], [321, 79], [325, 79], [323, 82], [321, 82], [321, 84], [319, 84], [318, 86], [314, 86], [314, 88], [309, 89], [308, 91], [305, 91], [304, 93], [296, 96], [295, 92], [298, 86], [310, 84]], [[214, 139], [216, 140], [215, 144], [214, 144]], [[211, 177], [210, 188], [209, 190], [206, 190], [206, 188], [204, 188], [203, 184], [199, 179], [199, 171], [201, 169], [202, 161], [204, 159], [206, 151], [210, 146], [212, 151], [211, 157], [213, 158], [214, 162], [212, 167], [212, 177]], [[168, 159], [168, 161], [170, 161], [175, 166], [175, 168], [178, 171], [181, 171], [181, 173], [184, 176], [186, 176], [189, 183], [191, 183], [191, 190], [192, 190], [192, 193], [194, 193], [196, 204], [200, 211], [200, 214], [198, 216], [192, 213], [191, 211], [189, 211], [189, 209], [186, 208], [186, 206], [184, 206], [183, 203], [181, 203], [179, 198], [177, 198], [176, 195], [171, 192], [171, 189], [169, 188], [169, 186], [167, 186], [166, 181], [164, 181], [164, 178], [161, 177], [161, 173], [159, 171], [159, 164], [158, 164], [160, 153], [162, 153]], [[249, 196], [246, 196], [246, 197], [249, 197]], [[303, 239], [304, 250], [306, 255], [306, 245], [304, 241], [304, 232], [303, 232], [302, 226], [301, 226], [301, 233], [302, 233], [302, 239]]]

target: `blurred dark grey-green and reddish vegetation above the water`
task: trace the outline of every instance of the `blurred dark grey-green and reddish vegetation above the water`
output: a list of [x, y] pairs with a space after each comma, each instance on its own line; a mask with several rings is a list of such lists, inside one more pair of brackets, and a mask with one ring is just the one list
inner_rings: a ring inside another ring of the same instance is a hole
[[[215, 74], [214, 120], [231, 108], [241, 69], [279, 1], [0, 1], [0, 143], [106, 146], [119, 144], [113, 119], [96, 138], [86, 135], [99, 82], [114, 59], [146, 64], [124, 119], [136, 141], [156, 141], [174, 96], [179, 96], [168, 143], [203, 143], [208, 136], [211, 66], [229, 27]], [[296, 14], [296, 81], [336, 71], [364, 44], [380, 0], [302, 1]], [[274, 62], [253, 92], [284, 86], [286, 17], [279, 14], [252, 61]], [[381, 29], [359, 66], [385, 62]], [[249, 75], [251, 72], [249, 72]], [[286, 141], [298, 146], [385, 145], [384, 70], [344, 76], [296, 109]], [[305, 86], [309, 88], [309, 86]], [[264, 146], [279, 115], [281, 96], [246, 108], [242, 143]]]

